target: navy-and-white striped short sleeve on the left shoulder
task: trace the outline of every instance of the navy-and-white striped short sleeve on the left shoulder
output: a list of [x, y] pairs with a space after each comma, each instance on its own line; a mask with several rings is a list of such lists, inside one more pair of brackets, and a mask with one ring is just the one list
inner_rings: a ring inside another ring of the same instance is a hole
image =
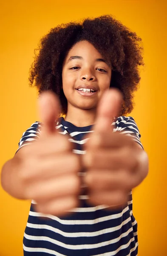
[[23, 146], [31, 144], [33, 140], [37, 140], [40, 137], [40, 127], [41, 122], [36, 121], [23, 133], [20, 142], [18, 143], [19, 148], [17, 149], [17, 151], [19, 151], [19, 149]]

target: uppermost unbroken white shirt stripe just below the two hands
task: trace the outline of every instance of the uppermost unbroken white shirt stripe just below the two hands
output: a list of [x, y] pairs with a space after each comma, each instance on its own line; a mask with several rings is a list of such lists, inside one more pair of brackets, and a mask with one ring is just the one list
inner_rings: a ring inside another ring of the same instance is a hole
[[57, 216], [51, 215], [51, 214], [44, 214], [41, 212], [29, 212], [29, 215], [31, 216], [36, 216], [36, 217], [46, 217], [46, 218], [51, 218], [52, 220], [58, 221], [61, 224], [64, 225], [91, 225], [91, 224], [95, 224], [95, 223], [99, 223], [99, 222], [103, 222], [103, 221], [109, 221], [112, 219], [116, 219], [116, 218], [120, 218], [122, 217], [122, 215], [124, 214], [124, 212], [127, 212], [129, 210], [129, 207], [125, 207], [122, 212], [120, 213], [116, 213], [116, 214], [112, 214], [112, 215], [108, 215], [105, 217], [101, 217], [101, 218], [96, 218], [93, 220], [62, 220]]

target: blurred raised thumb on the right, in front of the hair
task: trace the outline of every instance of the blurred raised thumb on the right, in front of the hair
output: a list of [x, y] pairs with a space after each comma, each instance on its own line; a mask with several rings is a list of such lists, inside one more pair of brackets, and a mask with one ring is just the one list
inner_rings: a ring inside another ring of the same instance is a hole
[[94, 131], [108, 131], [108, 129], [111, 129], [114, 117], [118, 116], [121, 111], [122, 100], [122, 93], [118, 89], [105, 91], [97, 108]]

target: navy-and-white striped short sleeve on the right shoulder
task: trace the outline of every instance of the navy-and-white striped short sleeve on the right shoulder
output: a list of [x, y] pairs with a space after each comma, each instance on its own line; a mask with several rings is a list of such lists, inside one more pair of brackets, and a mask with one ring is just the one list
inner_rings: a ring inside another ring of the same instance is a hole
[[140, 141], [141, 134], [139, 133], [139, 128], [132, 116], [119, 116], [115, 119], [115, 122], [113, 122], [112, 125], [115, 125], [113, 131], [119, 131], [122, 134], [133, 137], [134, 140], [143, 148]]

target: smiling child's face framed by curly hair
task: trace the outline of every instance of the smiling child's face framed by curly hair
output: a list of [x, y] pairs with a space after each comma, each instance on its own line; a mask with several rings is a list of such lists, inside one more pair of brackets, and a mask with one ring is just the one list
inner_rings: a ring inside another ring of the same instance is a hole
[[[103, 60], [88, 41], [80, 41], [70, 49], [62, 67], [62, 87], [68, 108], [96, 108], [102, 94], [110, 87], [111, 67]], [[88, 92], [82, 88], [87, 88]]]

